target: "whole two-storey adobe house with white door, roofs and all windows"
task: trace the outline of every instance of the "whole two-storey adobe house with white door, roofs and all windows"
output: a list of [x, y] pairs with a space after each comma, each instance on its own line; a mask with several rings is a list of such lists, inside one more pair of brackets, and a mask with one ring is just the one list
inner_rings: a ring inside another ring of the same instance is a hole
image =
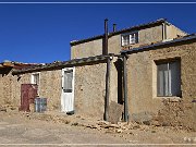
[[[39, 96], [48, 98], [48, 110], [112, 122], [122, 118], [151, 122], [161, 115], [162, 124], [191, 127], [196, 91], [195, 35], [188, 36], [163, 19], [107, 34], [109, 54], [103, 34], [71, 41], [70, 61], [15, 70], [13, 74], [21, 81], [28, 78], [28, 83], [39, 76]], [[181, 102], [184, 99], [188, 102]], [[179, 117], [170, 117], [170, 111]], [[179, 119], [183, 114], [191, 123]]]

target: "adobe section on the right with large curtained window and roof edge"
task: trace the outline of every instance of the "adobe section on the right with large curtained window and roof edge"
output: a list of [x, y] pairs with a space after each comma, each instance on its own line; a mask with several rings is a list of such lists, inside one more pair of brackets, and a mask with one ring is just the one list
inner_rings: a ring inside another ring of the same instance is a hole
[[196, 34], [121, 53], [130, 120], [196, 130]]

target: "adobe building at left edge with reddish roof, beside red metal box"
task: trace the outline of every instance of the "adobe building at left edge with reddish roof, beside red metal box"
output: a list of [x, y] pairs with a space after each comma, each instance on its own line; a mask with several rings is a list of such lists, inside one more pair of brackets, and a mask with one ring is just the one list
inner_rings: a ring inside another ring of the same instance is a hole
[[14, 70], [34, 66], [33, 63], [11, 62], [0, 63], [0, 106], [19, 107], [21, 105], [21, 84], [28, 83], [28, 78], [20, 79], [13, 76]]

